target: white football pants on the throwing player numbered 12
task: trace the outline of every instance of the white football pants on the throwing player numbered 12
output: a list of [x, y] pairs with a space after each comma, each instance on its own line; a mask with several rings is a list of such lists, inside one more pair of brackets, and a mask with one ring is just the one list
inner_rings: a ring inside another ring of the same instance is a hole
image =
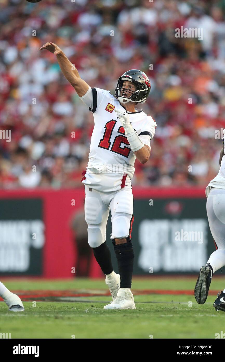
[[85, 195], [85, 220], [90, 247], [97, 248], [106, 240], [109, 208], [112, 214], [111, 239], [131, 237], [134, 218], [130, 184], [114, 192], [100, 192], [85, 185]]

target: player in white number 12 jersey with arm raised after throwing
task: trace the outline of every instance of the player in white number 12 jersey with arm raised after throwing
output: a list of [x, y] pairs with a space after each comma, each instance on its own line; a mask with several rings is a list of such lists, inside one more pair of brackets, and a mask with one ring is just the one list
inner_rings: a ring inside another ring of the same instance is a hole
[[[89, 161], [82, 182], [86, 194], [88, 244], [106, 275], [105, 282], [113, 299], [104, 309], [135, 309], [131, 293], [134, 263], [131, 178], [136, 157], [143, 164], [148, 161], [150, 140], [156, 128], [152, 117], [135, 105], [146, 101], [150, 82], [144, 72], [129, 70], [118, 79], [113, 96], [109, 90], [91, 88], [81, 79], [74, 64], [56, 44], [46, 43], [40, 48], [43, 49], [57, 56], [62, 73], [94, 115]], [[113, 271], [105, 242], [109, 209], [119, 274]]]

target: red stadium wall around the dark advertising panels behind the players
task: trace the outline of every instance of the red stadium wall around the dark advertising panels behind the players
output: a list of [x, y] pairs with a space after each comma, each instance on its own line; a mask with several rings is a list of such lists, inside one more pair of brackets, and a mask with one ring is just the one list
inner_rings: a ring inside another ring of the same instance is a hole
[[[133, 188], [135, 199], [205, 198], [202, 188]], [[42, 220], [45, 242], [43, 246], [42, 276], [45, 278], [73, 278], [71, 270], [76, 265], [76, 246], [73, 241], [71, 219], [83, 207], [85, 191], [79, 189], [1, 190], [0, 200], [42, 200]], [[74, 205], [75, 204], [75, 205]], [[23, 206], [21, 207], [21, 209]], [[20, 210], [17, 210], [20, 213]], [[135, 223], [134, 223], [135, 228]], [[20, 243], [20, 235], [18, 235]], [[4, 273], [3, 273], [4, 274]], [[92, 257], [90, 276], [101, 276], [101, 270]]]

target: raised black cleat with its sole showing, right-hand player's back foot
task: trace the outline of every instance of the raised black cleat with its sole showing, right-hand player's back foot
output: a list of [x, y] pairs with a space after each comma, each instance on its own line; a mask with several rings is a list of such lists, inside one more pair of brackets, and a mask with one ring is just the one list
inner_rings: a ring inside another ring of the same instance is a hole
[[200, 269], [197, 283], [195, 285], [195, 299], [198, 304], [204, 304], [208, 296], [213, 270], [211, 265], [203, 265]]

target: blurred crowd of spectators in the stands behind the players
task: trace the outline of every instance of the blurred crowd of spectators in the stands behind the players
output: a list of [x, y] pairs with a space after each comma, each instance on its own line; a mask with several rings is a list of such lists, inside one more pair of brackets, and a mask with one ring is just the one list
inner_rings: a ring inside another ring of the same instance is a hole
[[[175, 29], [203, 29], [203, 39]], [[206, 186], [225, 128], [225, 0], [0, 0], [0, 188], [82, 187], [93, 115], [44, 43], [59, 45], [91, 87], [114, 94], [129, 69], [147, 73], [142, 108], [157, 123], [133, 185]], [[74, 135], [75, 137], [72, 136]]]

